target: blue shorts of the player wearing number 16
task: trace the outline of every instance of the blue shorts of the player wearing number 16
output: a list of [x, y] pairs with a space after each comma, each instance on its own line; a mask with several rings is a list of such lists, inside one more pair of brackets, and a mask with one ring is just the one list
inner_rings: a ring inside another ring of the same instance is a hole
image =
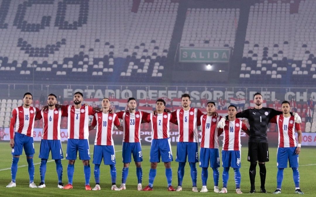
[[224, 168], [240, 168], [240, 151], [239, 150], [222, 150], [222, 166]]

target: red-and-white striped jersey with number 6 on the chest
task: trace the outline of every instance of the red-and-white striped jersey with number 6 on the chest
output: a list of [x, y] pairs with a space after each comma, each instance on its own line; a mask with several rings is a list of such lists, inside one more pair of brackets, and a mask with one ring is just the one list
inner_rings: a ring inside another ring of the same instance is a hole
[[61, 108], [46, 109], [40, 113], [43, 118], [43, 140], [60, 140], [60, 122], [62, 116], [67, 116]]

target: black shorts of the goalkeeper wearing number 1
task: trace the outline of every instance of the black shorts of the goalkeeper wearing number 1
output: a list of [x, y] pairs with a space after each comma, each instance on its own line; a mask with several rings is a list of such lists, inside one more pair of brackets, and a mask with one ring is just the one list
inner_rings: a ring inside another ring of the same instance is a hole
[[267, 162], [269, 161], [268, 143], [248, 142], [248, 161]]

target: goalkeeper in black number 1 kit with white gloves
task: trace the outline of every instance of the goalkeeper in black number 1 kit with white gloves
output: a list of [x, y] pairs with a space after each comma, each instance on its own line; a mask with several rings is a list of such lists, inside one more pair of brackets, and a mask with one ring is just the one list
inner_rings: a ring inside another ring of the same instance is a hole
[[[246, 118], [249, 121], [250, 133], [248, 141], [248, 161], [250, 162], [249, 177], [250, 177], [250, 192], [255, 193], [255, 177], [257, 161], [260, 168], [261, 193], [267, 193], [265, 189], [265, 162], [269, 161], [267, 127], [274, 116], [282, 114], [281, 111], [276, 111], [272, 108], [262, 107], [263, 99], [260, 93], [255, 93], [253, 96], [255, 107], [246, 109], [236, 114], [236, 118]], [[292, 114], [291, 114], [292, 115]], [[293, 113], [295, 123], [301, 123], [301, 117], [297, 113]], [[222, 118], [217, 127], [224, 128], [225, 118]]]

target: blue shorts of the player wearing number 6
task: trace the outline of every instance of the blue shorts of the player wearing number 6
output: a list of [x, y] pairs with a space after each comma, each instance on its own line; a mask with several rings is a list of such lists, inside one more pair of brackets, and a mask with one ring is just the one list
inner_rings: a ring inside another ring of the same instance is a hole
[[63, 149], [61, 148], [60, 140], [42, 140], [40, 142], [41, 159], [48, 159], [49, 152], [52, 151], [52, 159], [63, 159]]

